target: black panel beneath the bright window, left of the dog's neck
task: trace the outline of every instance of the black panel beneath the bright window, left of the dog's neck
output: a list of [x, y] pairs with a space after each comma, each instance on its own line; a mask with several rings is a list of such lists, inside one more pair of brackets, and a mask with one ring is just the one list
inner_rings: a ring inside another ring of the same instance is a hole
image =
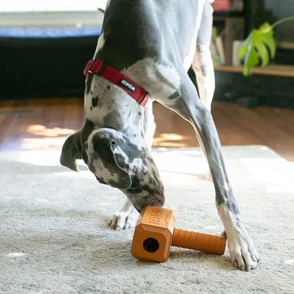
[[98, 37], [0, 38], [0, 99], [83, 97]]

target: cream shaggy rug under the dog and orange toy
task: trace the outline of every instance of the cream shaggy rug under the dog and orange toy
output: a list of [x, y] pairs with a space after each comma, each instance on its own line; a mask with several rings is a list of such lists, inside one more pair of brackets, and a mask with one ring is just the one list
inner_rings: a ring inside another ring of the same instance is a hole
[[[294, 169], [264, 146], [224, 147], [245, 227], [261, 254], [241, 272], [223, 256], [172, 247], [165, 263], [131, 256], [134, 229], [107, 221], [124, 202], [85, 165], [57, 151], [0, 153], [0, 293], [294, 293]], [[199, 148], [156, 149], [165, 207], [177, 228], [219, 234], [213, 185]]]

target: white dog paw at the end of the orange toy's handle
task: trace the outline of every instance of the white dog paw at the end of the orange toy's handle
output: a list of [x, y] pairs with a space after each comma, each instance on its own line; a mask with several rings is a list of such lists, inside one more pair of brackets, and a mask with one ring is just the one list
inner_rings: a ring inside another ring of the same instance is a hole
[[233, 233], [227, 233], [227, 236], [233, 266], [241, 271], [256, 269], [260, 256], [246, 230], [235, 230]]

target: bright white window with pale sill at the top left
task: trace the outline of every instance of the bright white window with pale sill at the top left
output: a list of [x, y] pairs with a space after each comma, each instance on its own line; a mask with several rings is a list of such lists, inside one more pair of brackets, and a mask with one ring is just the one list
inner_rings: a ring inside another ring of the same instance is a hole
[[0, 28], [101, 27], [107, 0], [0, 0]]

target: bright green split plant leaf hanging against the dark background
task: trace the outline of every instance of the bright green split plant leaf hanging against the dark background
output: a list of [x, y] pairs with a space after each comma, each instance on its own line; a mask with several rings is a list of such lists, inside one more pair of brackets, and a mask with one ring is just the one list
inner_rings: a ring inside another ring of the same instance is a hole
[[252, 30], [238, 50], [238, 56], [244, 59], [243, 74], [245, 76], [250, 74], [252, 67], [259, 63], [259, 57], [261, 66], [265, 66], [269, 63], [270, 58], [274, 58], [275, 53], [274, 31], [269, 23], [263, 23], [258, 30]]

